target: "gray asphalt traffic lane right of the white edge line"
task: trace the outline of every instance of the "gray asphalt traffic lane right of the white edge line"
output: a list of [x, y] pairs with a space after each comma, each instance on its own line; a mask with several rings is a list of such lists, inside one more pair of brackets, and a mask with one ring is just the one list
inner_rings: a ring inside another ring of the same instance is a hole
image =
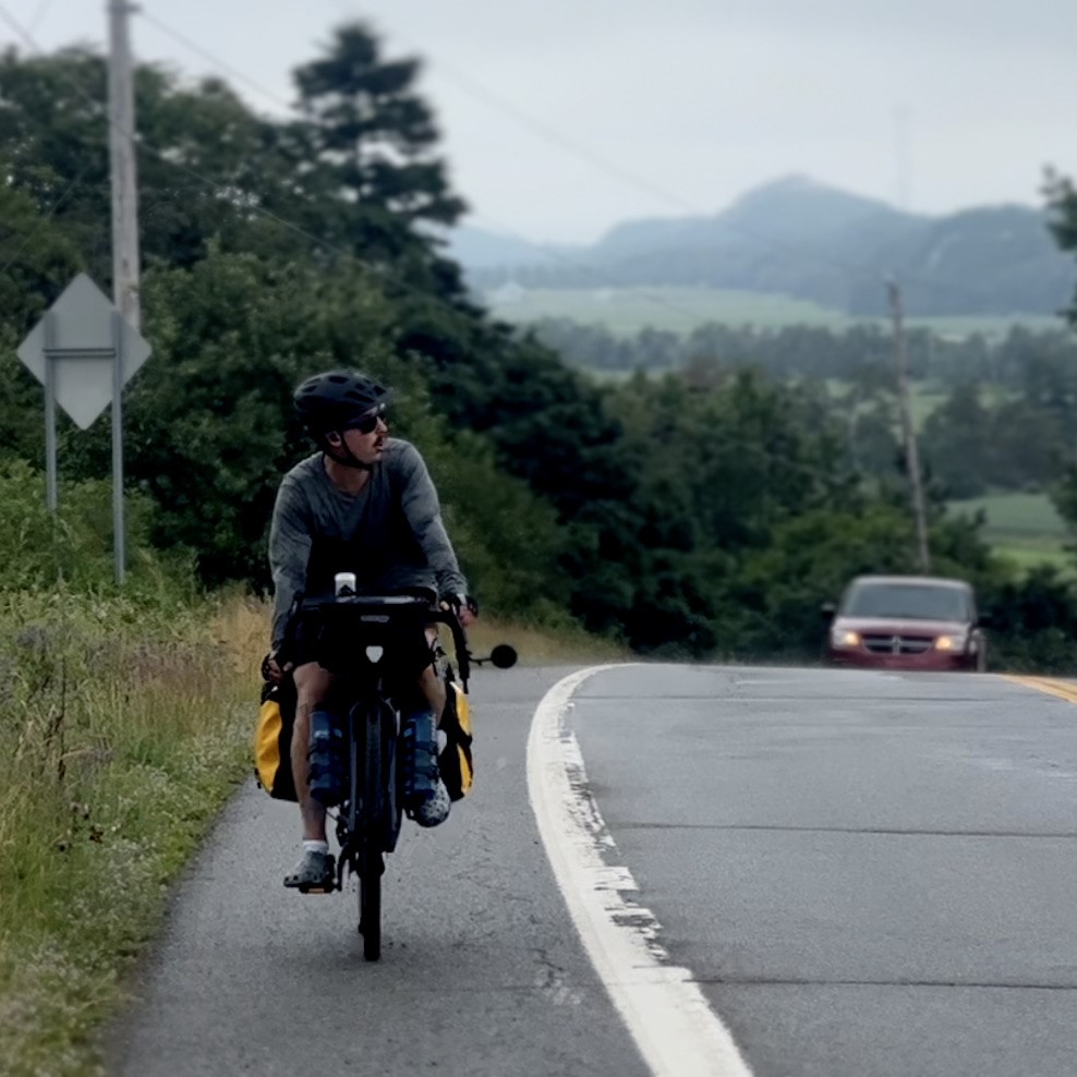
[[1077, 1073], [1073, 703], [637, 667], [585, 682], [571, 728], [670, 958], [760, 1077]]

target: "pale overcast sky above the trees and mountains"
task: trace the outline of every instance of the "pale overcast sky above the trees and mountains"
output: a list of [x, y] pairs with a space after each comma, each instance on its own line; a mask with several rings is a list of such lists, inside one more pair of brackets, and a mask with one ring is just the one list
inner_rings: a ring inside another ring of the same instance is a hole
[[[135, 16], [141, 60], [269, 112], [334, 24], [366, 20], [424, 59], [470, 221], [536, 241], [716, 213], [789, 173], [930, 214], [1038, 205], [1044, 166], [1077, 176], [1077, 0], [140, 3], [169, 28]], [[0, 10], [46, 50], [105, 39], [105, 0]]]

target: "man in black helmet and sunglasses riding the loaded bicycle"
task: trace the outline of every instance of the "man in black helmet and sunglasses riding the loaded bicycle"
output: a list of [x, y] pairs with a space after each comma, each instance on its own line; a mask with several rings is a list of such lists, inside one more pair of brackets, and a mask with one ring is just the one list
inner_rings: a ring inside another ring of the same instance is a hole
[[[448, 603], [462, 625], [477, 615], [426, 464], [409, 441], [389, 437], [385, 409], [390, 396], [365, 374], [329, 371], [304, 380], [293, 397], [318, 451], [285, 475], [269, 531], [275, 601], [267, 669], [274, 680], [291, 673], [295, 682], [291, 762], [303, 826], [302, 857], [285, 878], [286, 886], [317, 888], [334, 876], [325, 808], [310, 792], [307, 741], [311, 713], [332, 687], [326, 667], [348, 661], [347, 641], [326, 641], [318, 626], [293, 621], [294, 603], [300, 596], [332, 594], [334, 577], [348, 571], [360, 591], [423, 588]], [[433, 712], [436, 728], [445, 688], [434, 666], [434, 640], [433, 629], [419, 630], [399, 649], [396, 669], [418, 687], [415, 702]], [[438, 780], [435, 797], [416, 808], [414, 818], [436, 825], [448, 806]]]

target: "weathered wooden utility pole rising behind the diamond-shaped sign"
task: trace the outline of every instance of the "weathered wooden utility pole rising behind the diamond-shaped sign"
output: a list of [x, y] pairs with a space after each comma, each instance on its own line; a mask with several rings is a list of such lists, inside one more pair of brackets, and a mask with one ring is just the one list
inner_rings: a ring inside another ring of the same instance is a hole
[[123, 319], [142, 328], [138, 274], [138, 186], [135, 174], [134, 85], [128, 0], [108, 0], [109, 148], [112, 164], [112, 301]]

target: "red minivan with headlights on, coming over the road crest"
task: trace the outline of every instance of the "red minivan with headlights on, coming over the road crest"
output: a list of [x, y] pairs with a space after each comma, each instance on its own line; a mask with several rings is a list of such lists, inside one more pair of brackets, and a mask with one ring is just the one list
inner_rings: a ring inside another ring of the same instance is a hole
[[983, 619], [972, 588], [933, 576], [858, 576], [832, 618], [824, 653], [832, 665], [873, 669], [988, 666]]

